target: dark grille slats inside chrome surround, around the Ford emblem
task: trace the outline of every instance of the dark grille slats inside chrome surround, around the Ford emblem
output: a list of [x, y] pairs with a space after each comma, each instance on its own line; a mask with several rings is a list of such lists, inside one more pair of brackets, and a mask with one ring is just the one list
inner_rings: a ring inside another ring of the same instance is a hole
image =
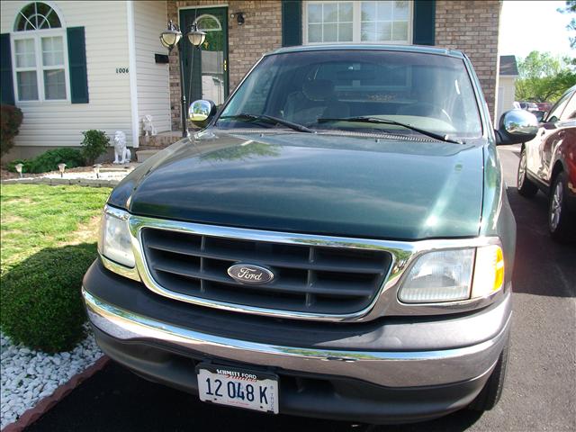
[[[166, 290], [267, 310], [349, 314], [379, 293], [392, 256], [383, 250], [293, 245], [141, 229], [150, 275]], [[268, 284], [241, 284], [227, 270], [237, 263], [266, 266]]]

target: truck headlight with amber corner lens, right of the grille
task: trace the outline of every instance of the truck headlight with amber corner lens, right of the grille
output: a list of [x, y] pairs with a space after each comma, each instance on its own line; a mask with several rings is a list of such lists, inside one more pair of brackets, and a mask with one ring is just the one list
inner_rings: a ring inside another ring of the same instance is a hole
[[455, 302], [496, 293], [503, 284], [500, 246], [437, 250], [417, 259], [398, 298], [405, 303]]

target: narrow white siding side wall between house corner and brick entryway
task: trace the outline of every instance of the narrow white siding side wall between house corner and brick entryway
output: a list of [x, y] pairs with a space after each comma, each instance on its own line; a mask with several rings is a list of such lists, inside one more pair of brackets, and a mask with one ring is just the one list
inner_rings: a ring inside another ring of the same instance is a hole
[[154, 58], [167, 54], [159, 39], [166, 30], [166, 2], [134, 2], [134, 25], [139, 128], [142, 117], [149, 114], [157, 132], [171, 130], [168, 65], [157, 64]]

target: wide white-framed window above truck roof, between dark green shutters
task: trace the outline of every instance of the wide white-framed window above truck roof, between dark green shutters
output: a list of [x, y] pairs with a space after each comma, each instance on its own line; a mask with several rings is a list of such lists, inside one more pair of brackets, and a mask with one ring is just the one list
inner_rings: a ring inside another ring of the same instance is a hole
[[374, 42], [409, 44], [412, 2], [310, 1], [304, 7], [305, 43]]

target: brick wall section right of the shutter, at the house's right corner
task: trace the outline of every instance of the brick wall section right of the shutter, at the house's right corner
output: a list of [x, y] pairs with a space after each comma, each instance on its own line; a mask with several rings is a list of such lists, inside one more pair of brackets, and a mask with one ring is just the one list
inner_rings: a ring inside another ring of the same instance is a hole
[[492, 117], [498, 89], [499, 23], [498, 0], [437, 1], [436, 45], [461, 49], [471, 59]]

